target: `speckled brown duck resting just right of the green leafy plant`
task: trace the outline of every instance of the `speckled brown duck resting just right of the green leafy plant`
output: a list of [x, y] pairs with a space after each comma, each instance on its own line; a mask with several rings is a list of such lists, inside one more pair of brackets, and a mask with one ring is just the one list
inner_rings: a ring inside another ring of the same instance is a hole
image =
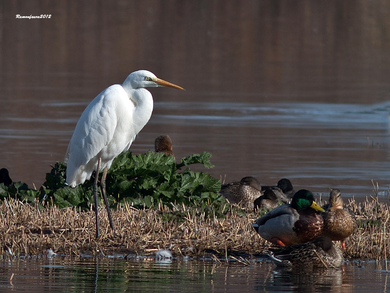
[[222, 184], [221, 194], [230, 203], [254, 207], [254, 200], [263, 195], [260, 183], [254, 177], [244, 177], [241, 181]]

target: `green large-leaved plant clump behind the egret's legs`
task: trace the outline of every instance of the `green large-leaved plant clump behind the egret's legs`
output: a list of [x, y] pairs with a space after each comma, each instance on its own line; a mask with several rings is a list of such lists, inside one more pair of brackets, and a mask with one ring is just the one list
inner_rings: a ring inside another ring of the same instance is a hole
[[[106, 186], [110, 204], [133, 204], [135, 207], [149, 208], [157, 203], [185, 204], [187, 206], [207, 206], [219, 198], [221, 182], [207, 173], [193, 172], [190, 168], [180, 168], [210, 163], [211, 154], [203, 152], [185, 157], [176, 164], [172, 156], [164, 153], [148, 151], [144, 154], [132, 155], [125, 152], [119, 155], [108, 171]], [[57, 163], [50, 173], [46, 174], [46, 182], [42, 193], [51, 197], [59, 207], [78, 206], [88, 209], [92, 202], [93, 180], [86, 181], [76, 188], [65, 185], [66, 166]]]

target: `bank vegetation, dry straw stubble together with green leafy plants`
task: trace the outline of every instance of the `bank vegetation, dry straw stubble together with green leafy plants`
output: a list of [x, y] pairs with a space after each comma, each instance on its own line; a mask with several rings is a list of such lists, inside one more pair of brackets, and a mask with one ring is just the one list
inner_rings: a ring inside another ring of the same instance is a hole
[[[195, 154], [179, 164], [172, 156], [155, 152], [117, 157], [107, 175], [117, 236], [110, 230], [105, 210], [99, 209], [98, 239], [92, 180], [69, 188], [66, 166], [57, 163], [39, 190], [22, 182], [0, 184], [0, 254], [34, 255], [47, 248], [69, 255], [154, 255], [161, 248], [177, 257], [261, 254], [270, 244], [251, 224], [266, 210], [230, 205], [219, 195], [220, 180], [188, 167], [213, 167], [210, 157], [207, 152]], [[358, 231], [347, 239], [346, 257], [387, 259], [389, 207], [374, 199], [348, 206], [358, 218]]]

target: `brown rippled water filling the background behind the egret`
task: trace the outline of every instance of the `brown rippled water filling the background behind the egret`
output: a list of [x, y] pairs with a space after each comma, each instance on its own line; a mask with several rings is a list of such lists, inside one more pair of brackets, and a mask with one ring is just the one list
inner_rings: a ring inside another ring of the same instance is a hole
[[373, 180], [387, 201], [389, 1], [8, 0], [0, 29], [0, 167], [14, 181], [39, 188], [85, 106], [148, 69], [186, 91], [151, 89], [133, 152], [168, 134], [176, 158], [209, 151], [227, 182], [362, 199]]

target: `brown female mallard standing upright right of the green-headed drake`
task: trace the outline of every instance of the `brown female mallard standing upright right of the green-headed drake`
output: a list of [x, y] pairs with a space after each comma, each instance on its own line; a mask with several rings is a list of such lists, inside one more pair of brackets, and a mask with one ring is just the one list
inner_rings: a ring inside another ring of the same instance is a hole
[[325, 209], [323, 235], [327, 235], [334, 241], [341, 241], [345, 249], [345, 239], [357, 230], [356, 217], [353, 211], [344, 205], [341, 192], [335, 188], [331, 190], [329, 204], [322, 207]]

